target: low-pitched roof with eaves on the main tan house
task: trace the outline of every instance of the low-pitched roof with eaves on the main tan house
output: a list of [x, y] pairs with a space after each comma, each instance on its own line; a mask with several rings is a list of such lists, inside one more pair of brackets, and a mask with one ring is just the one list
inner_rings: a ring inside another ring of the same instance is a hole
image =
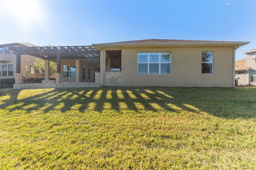
[[230, 42], [230, 41], [207, 41], [207, 40], [166, 40], [166, 39], [148, 39], [125, 42], [112, 42], [92, 44], [93, 46], [114, 46], [114, 45], [196, 45], [196, 44], [248, 44], [249, 42]]

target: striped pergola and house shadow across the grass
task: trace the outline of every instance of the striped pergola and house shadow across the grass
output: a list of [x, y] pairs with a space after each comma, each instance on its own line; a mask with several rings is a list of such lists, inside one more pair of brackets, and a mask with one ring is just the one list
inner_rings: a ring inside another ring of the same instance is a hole
[[[41, 93], [13, 90], [1, 108], [9, 112], [26, 110], [30, 113], [76, 110], [116, 111], [118, 114], [135, 111], [162, 114], [211, 114], [225, 119], [256, 118], [256, 88], [184, 88], [184, 87], [103, 87], [46, 89]], [[22, 98], [23, 97], [23, 98]]]

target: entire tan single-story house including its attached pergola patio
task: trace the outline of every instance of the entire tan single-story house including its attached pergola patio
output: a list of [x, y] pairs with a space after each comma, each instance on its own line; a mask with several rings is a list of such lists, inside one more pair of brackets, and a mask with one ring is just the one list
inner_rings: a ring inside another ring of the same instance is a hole
[[[33, 55], [44, 59], [46, 72], [49, 61], [56, 62], [56, 83], [52, 82], [52, 88], [71, 87], [70, 84], [72, 87], [92, 84], [98, 87], [234, 87], [235, 50], [248, 43], [150, 39], [12, 49], [17, 58]], [[45, 79], [51, 83], [47, 73]], [[25, 88], [18, 78], [16, 80], [18, 85], [14, 88]]]

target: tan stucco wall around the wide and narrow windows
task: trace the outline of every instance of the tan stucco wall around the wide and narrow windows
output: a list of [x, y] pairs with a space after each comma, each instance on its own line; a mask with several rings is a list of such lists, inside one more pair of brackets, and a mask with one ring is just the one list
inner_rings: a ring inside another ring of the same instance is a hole
[[[108, 49], [109, 50], [109, 49]], [[122, 48], [120, 86], [232, 87], [233, 47]], [[213, 74], [202, 74], [202, 51], [214, 51]], [[172, 52], [170, 75], [138, 74], [138, 52]], [[104, 78], [105, 79], [105, 78]], [[104, 81], [104, 85], [111, 85]]]

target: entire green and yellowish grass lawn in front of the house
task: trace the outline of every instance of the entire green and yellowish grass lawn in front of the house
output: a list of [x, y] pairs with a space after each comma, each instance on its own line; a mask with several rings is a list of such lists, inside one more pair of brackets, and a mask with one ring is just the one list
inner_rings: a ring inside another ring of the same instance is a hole
[[1, 89], [0, 169], [256, 169], [256, 88]]

